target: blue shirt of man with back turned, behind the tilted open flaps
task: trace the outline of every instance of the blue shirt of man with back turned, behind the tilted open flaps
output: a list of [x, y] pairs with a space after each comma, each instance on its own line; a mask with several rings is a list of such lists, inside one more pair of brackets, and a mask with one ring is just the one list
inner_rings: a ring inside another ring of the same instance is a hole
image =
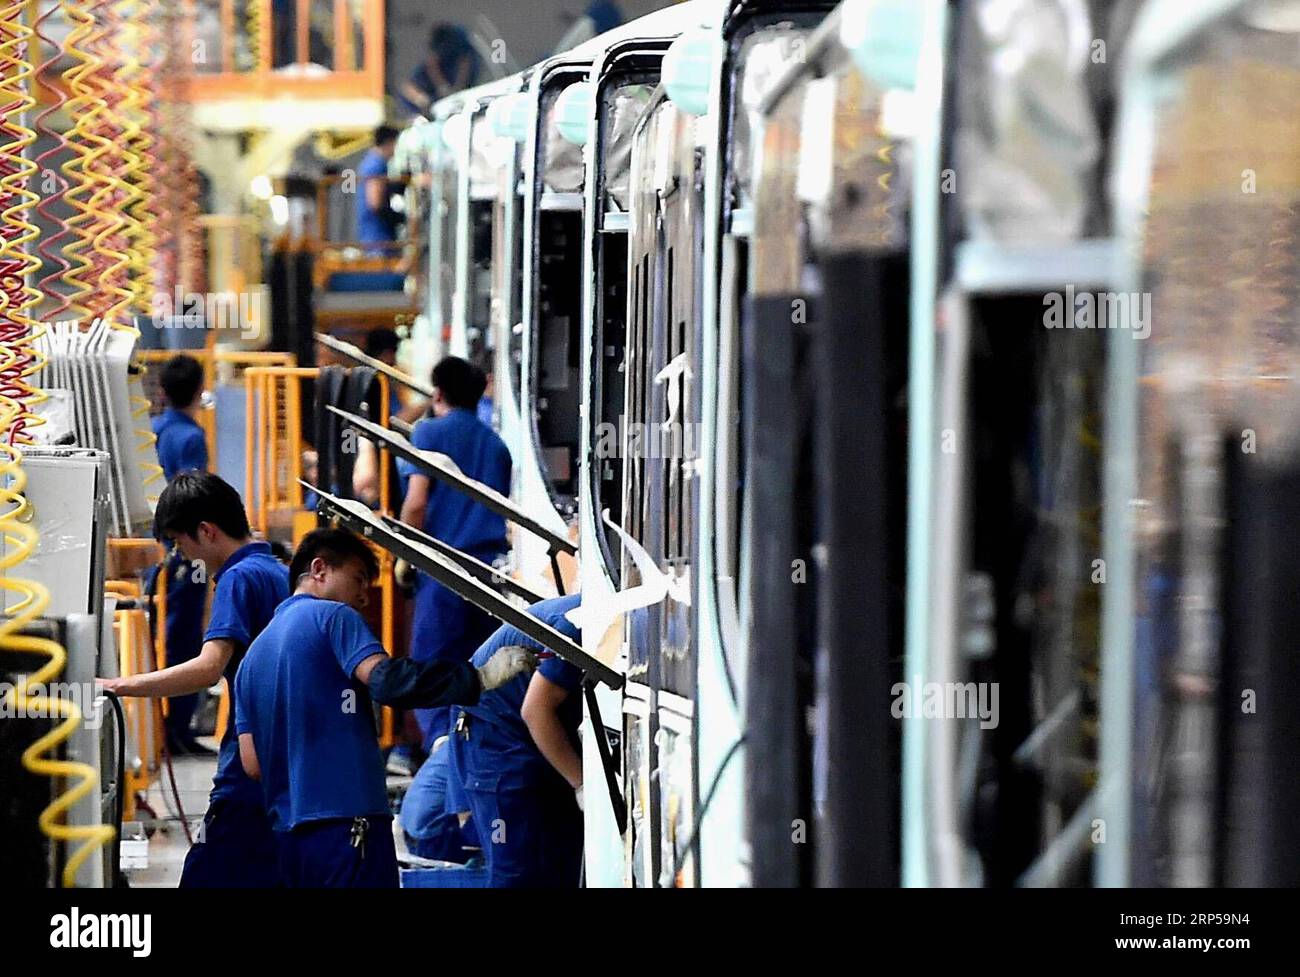
[[[510, 450], [473, 411], [456, 408], [442, 417], [426, 417], [411, 431], [411, 443], [421, 451], [447, 455], [469, 478], [510, 495]], [[407, 461], [399, 463], [398, 470], [419, 473]], [[489, 561], [504, 550], [506, 520], [432, 476], [422, 529], [434, 539]]]

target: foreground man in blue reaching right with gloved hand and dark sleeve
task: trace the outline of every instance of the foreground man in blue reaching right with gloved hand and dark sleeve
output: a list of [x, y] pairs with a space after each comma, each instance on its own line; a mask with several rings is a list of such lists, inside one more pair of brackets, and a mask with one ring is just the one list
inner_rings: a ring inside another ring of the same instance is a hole
[[504, 648], [482, 668], [390, 659], [358, 613], [378, 561], [358, 537], [318, 529], [289, 570], [294, 595], [235, 678], [239, 754], [261, 781], [285, 885], [396, 887], [398, 865], [372, 700], [402, 708], [478, 702], [530, 670]]

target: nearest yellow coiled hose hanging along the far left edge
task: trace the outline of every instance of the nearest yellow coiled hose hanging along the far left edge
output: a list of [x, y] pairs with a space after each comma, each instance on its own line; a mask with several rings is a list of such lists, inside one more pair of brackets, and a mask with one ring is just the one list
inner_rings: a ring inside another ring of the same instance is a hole
[[[30, 270], [32, 259], [26, 244], [35, 236], [35, 227], [26, 220], [26, 212], [32, 205], [35, 195], [26, 191], [26, 181], [34, 166], [23, 159], [23, 151], [35, 139], [35, 134], [22, 123], [22, 116], [34, 101], [27, 94], [27, 82], [34, 68], [27, 60], [32, 31], [27, 19], [34, 6], [32, 0], [9, 3], [0, 8], [0, 30], [5, 40], [0, 43], [0, 104], [4, 109], [4, 127], [16, 134], [16, 139], [0, 147], [0, 159], [6, 169], [17, 175], [6, 177], [3, 183], [8, 194], [17, 197], [17, 204], [0, 214], [6, 233], [0, 242], [0, 261], [17, 262]], [[13, 199], [13, 197], [10, 197]], [[23, 285], [22, 300], [10, 303], [5, 298], [4, 318], [10, 324], [25, 326], [20, 335], [0, 340], [0, 373], [21, 366], [20, 377], [27, 377], [38, 368], [31, 355], [31, 320], [26, 311], [35, 301], [35, 295]], [[30, 411], [35, 391], [26, 383], [21, 385], [17, 398], [12, 388], [0, 394], [0, 431], [6, 435], [32, 422]], [[60, 743], [66, 742], [81, 722], [81, 711], [65, 699], [51, 699], [34, 691], [35, 686], [48, 686], [62, 673], [68, 652], [53, 641], [23, 634], [49, 605], [49, 591], [34, 581], [12, 576], [14, 568], [22, 564], [35, 550], [39, 537], [30, 525], [30, 507], [23, 491], [27, 474], [22, 469], [22, 451], [9, 443], [6, 437], [0, 440], [0, 539], [4, 550], [0, 552], [0, 590], [5, 591], [5, 611], [0, 618], [0, 648], [12, 652], [44, 655], [48, 661], [31, 676], [20, 678], [18, 683], [5, 691], [9, 707], [18, 715], [43, 715], [60, 717], [58, 725], [22, 754], [23, 767], [38, 776], [61, 778], [69, 785], [44, 811], [40, 812], [40, 830], [56, 842], [82, 842], [69, 856], [62, 873], [65, 886], [74, 885], [77, 872], [98, 850], [108, 844], [114, 835], [109, 825], [70, 826], [62, 824], [66, 812], [82, 798], [94, 791], [99, 778], [94, 768], [81, 763], [53, 759]], [[17, 598], [14, 603], [9, 603]]]

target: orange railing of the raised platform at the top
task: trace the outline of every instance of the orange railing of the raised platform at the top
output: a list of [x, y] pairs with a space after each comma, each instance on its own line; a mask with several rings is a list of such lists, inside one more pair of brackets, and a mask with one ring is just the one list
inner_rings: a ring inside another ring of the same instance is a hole
[[287, 6], [198, 0], [190, 6], [186, 48], [202, 55], [188, 84], [195, 101], [384, 97], [384, 0], [291, 0]]

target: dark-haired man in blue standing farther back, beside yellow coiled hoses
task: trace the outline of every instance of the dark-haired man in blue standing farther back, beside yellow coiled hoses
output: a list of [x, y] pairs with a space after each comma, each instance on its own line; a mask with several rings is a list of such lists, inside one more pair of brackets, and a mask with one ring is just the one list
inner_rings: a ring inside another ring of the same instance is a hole
[[[159, 464], [168, 481], [181, 472], [205, 472], [208, 439], [199, 426], [203, 366], [192, 356], [173, 356], [159, 375], [168, 408], [153, 418], [157, 437]], [[166, 565], [166, 663], [179, 665], [198, 656], [203, 647], [203, 612], [208, 603], [205, 574], [195, 573], [179, 552], [172, 551]], [[144, 579], [144, 592], [153, 594], [162, 564], [153, 566]], [[199, 704], [199, 695], [173, 695], [168, 699], [165, 720], [166, 748], [173, 756], [211, 756], [199, 743], [190, 724]]]

